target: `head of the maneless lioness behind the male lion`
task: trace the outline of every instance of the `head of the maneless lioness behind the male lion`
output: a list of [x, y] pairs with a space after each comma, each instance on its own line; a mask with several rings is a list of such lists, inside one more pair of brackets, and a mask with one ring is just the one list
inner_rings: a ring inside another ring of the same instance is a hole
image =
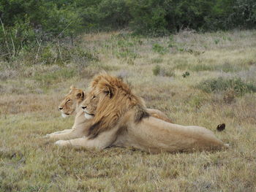
[[61, 104], [59, 104], [62, 117], [67, 118], [69, 115], [72, 115], [78, 105], [83, 101], [84, 96], [83, 90], [71, 86], [69, 93], [61, 101]]

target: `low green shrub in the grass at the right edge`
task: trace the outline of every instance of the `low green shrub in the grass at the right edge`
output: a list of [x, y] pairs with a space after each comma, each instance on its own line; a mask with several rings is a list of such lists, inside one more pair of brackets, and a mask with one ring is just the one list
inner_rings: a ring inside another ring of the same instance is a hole
[[206, 93], [233, 90], [237, 96], [243, 96], [244, 93], [256, 92], [256, 85], [252, 82], [244, 82], [241, 78], [225, 79], [219, 77], [217, 79], [204, 80], [197, 85], [197, 88]]

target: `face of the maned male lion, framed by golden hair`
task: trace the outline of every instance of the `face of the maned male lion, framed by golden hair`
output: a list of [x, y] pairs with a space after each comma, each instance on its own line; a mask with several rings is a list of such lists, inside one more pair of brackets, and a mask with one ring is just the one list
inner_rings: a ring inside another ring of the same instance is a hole
[[98, 103], [99, 94], [95, 93], [95, 91], [91, 91], [86, 95], [86, 99], [81, 104], [86, 119], [94, 118]]

